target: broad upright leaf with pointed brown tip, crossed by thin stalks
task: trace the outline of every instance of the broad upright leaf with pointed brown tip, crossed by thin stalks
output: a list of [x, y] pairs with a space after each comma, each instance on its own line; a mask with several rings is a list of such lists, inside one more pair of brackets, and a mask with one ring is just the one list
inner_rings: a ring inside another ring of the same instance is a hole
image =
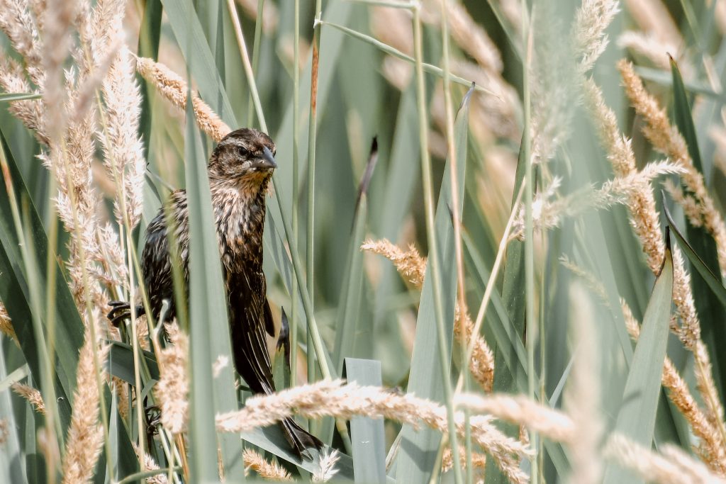
[[[470, 91], [471, 92], [471, 91]], [[457, 113], [454, 125], [455, 149], [457, 156], [457, 173], [451, 172], [451, 166], [446, 163], [444, 178], [441, 181], [439, 202], [436, 205], [436, 237], [439, 244], [439, 267], [441, 269], [441, 305], [444, 309], [446, 321], [446, 347], [452, 345], [452, 331], [454, 321], [454, 300], [456, 299], [457, 272], [454, 256], [454, 227], [452, 226], [449, 207], [452, 203], [462, 206], [464, 191], [460, 190], [459, 200], [452, 200], [451, 176], [456, 176], [459, 186], [464, 186], [464, 173], [466, 167], [466, 136], [468, 134], [470, 94], [465, 97], [462, 107]], [[421, 303], [416, 321], [416, 337], [409, 375], [408, 393], [420, 398], [429, 398], [433, 401], [443, 401], [444, 380], [441, 375], [438, 332], [436, 317], [434, 316], [433, 285], [431, 279], [431, 266], [426, 264], [423, 289], [421, 290]], [[401, 431], [401, 448], [396, 459], [396, 482], [398, 483], [425, 483], [431, 478], [433, 468], [436, 466], [436, 455], [439, 451], [441, 432], [422, 428], [414, 430], [404, 425]]]

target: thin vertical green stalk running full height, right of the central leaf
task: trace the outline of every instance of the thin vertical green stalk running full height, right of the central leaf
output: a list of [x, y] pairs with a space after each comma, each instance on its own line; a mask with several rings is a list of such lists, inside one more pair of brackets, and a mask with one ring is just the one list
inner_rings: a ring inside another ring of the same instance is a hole
[[[526, 12], [526, 0], [522, 0], [522, 11]], [[524, 283], [526, 295], [526, 347], [527, 347], [527, 382], [529, 398], [534, 400], [534, 348], [537, 345], [537, 313], [534, 311], [534, 226], [532, 224], [532, 198], [534, 197], [532, 160], [531, 160], [531, 101], [529, 90], [529, 67], [532, 59], [532, 36], [529, 29], [526, 15], [522, 19], [523, 45], [526, 46], [526, 55], [522, 69], [522, 99], [524, 105], [524, 134], [522, 137], [523, 159], [524, 159]], [[537, 432], [530, 432], [532, 446], [537, 446]], [[539, 482], [539, 470], [537, 456], [532, 456], [531, 482]]]

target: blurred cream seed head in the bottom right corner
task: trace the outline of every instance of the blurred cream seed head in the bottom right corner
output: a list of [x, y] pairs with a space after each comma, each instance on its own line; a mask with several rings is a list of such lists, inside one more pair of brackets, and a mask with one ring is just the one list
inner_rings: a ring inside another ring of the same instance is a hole
[[726, 481], [717, 477], [701, 463], [683, 453], [680, 449], [666, 444], [663, 454], [657, 454], [624, 435], [611, 434], [605, 444], [605, 457], [617, 464], [631, 469], [643, 480], [650, 483], [682, 484], [709, 483]]

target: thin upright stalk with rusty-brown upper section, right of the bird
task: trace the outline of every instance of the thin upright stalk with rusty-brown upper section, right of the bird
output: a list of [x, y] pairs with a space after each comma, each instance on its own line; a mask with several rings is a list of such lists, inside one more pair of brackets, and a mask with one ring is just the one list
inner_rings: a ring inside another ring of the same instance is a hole
[[[322, 0], [315, 1], [315, 20], [313, 28], [312, 41], [312, 67], [310, 70], [310, 111], [308, 118], [308, 213], [306, 218], [306, 243], [305, 243], [305, 267], [307, 269], [306, 284], [310, 294], [310, 303], [314, 305], [314, 272], [315, 272], [315, 145], [317, 141], [317, 82], [318, 82], [318, 66], [320, 59], [320, 28], [317, 23], [322, 17]], [[312, 306], [314, 310], [314, 306]], [[312, 341], [311, 335], [308, 334], [308, 348]], [[325, 357], [323, 357], [325, 358]], [[313, 355], [308, 350], [308, 382], [314, 382], [316, 379], [315, 365]], [[317, 427], [317, 422], [311, 422], [312, 427]]]

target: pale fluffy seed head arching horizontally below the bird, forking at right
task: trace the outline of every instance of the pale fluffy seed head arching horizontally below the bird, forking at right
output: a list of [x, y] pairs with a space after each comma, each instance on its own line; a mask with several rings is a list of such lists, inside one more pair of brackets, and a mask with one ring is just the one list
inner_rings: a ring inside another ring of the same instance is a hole
[[[492, 424], [492, 418], [514, 419], [531, 425], [548, 438], [566, 438], [567, 417], [552, 409], [539, 407], [537, 403], [523, 403], [518, 398], [482, 398], [478, 395], [460, 395], [460, 406], [486, 409], [490, 414], [470, 417], [471, 435], [474, 442], [490, 454], [497, 467], [515, 483], [526, 482], [527, 476], [519, 469], [518, 458], [529, 456], [531, 451], [522, 443], [507, 437]], [[321, 381], [284, 390], [269, 396], [248, 399], [245, 408], [216, 417], [220, 432], [245, 432], [256, 427], [278, 422], [294, 413], [318, 419], [334, 416], [350, 419], [357, 415], [386, 418], [418, 427], [422, 422], [441, 432], [447, 432], [446, 408], [437, 403], [413, 395], [396, 395], [385, 388], [361, 387]], [[521, 412], [518, 414], [517, 412]], [[543, 422], [542, 418], [549, 422]], [[464, 434], [464, 414], [455, 416], [457, 432]], [[556, 422], [556, 423], [553, 423]], [[556, 427], [561, 424], [562, 428]], [[544, 433], [548, 432], [548, 433]]]

